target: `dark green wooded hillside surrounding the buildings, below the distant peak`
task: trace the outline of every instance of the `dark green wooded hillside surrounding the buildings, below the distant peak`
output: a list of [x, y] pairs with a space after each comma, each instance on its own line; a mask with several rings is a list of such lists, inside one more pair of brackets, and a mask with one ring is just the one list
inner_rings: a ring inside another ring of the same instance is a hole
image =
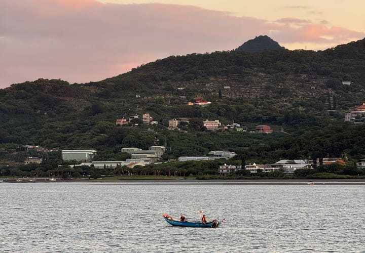
[[[63, 170], [58, 167], [63, 164], [59, 152], [36, 153], [24, 144], [93, 148], [98, 160], [124, 159], [122, 147], [166, 145], [164, 160], [228, 150], [246, 162], [329, 156], [346, 157], [353, 165], [365, 157], [365, 131], [364, 126], [343, 122], [344, 113], [365, 102], [364, 93], [365, 39], [319, 52], [171, 56], [84, 84], [26, 81], [0, 90], [0, 170], [4, 175], [16, 170], [30, 175], [37, 168], [43, 174], [63, 174], [54, 171], [56, 166]], [[186, 105], [198, 95], [212, 104]], [[115, 125], [116, 118], [142, 113], [150, 113], [159, 125]], [[190, 124], [169, 131], [167, 117], [190, 118]], [[237, 122], [247, 132], [206, 131], [203, 119]], [[249, 133], [257, 124], [269, 124], [274, 134]], [[47, 160], [42, 166], [20, 165], [29, 155]], [[217, 164], [213, 167], [216, 171]], [[89, 175], [87, 170], [78, 173]], [[211, 170], [202, 172], [213, 174]]]

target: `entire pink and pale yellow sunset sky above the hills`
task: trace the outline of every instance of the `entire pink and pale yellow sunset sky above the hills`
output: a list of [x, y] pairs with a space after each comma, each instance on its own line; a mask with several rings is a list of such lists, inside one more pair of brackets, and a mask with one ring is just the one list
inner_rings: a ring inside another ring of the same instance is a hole
[[0, 89], [99, 81], [268, 35], [289, 50], [365, 37], [363, 0], [0, 0]]

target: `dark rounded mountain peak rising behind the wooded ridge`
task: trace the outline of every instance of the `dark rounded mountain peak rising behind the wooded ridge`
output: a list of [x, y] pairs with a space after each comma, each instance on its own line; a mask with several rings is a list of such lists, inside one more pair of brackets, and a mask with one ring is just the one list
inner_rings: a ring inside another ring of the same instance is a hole
[[247, 40], [244, 44], [238, 47], [235, 51], [246, 52], [263, 52], [265, 50], [284, 49], [279, 43], [267, 35], [256, 36], [253, 39]]

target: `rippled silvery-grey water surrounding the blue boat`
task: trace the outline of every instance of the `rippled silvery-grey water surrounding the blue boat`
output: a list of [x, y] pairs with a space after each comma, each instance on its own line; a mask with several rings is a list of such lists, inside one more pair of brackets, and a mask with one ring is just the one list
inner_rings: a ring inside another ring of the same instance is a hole
[[[0, 184], [1, 252], [365, 252], [364, 185]], [[181, 228], [162, 214], [226, 219]]]

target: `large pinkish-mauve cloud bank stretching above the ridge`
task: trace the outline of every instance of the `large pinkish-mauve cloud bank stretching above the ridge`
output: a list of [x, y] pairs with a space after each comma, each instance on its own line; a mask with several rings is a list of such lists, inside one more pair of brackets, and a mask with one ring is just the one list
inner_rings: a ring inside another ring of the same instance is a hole
[[0, 88], [41, 77], [97, 81], [171, 55], [233, 50], [265, 34], [279, 44], [364, 37], [290, 17], [272, 23], [194, 6], [94, 0], [2, 0], [0, 20]]

